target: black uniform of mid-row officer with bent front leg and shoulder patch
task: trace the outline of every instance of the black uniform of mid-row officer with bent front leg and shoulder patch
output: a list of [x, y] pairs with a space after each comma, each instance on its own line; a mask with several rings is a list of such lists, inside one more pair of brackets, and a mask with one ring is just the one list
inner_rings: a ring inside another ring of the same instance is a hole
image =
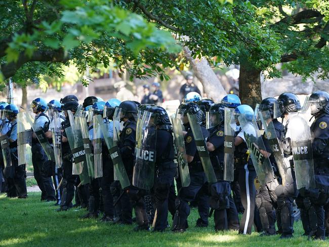
[[[201, 125], [202, 134], [205, 140], [208, 139], [208, 131]], [[196, 149], [196, 144], [189, 129], [184, 137], [186, 154], [193, 156], [192, 162], [188, 163], [190, 173], [190, 185], [188, 187], [181, 187], [176, 198], [176, 214], [174, 217], [174, 230], [185, 230], [188, 227], [187, 217], [190, 214], [190, 207], [188, 202], [193, 200], [199, 192], [198, 213], [200, 218], [197, 220], [197, 226], [208, 226], [209, 216], [209, 195], [208, 182], [205, 177], [200, 156]]]

